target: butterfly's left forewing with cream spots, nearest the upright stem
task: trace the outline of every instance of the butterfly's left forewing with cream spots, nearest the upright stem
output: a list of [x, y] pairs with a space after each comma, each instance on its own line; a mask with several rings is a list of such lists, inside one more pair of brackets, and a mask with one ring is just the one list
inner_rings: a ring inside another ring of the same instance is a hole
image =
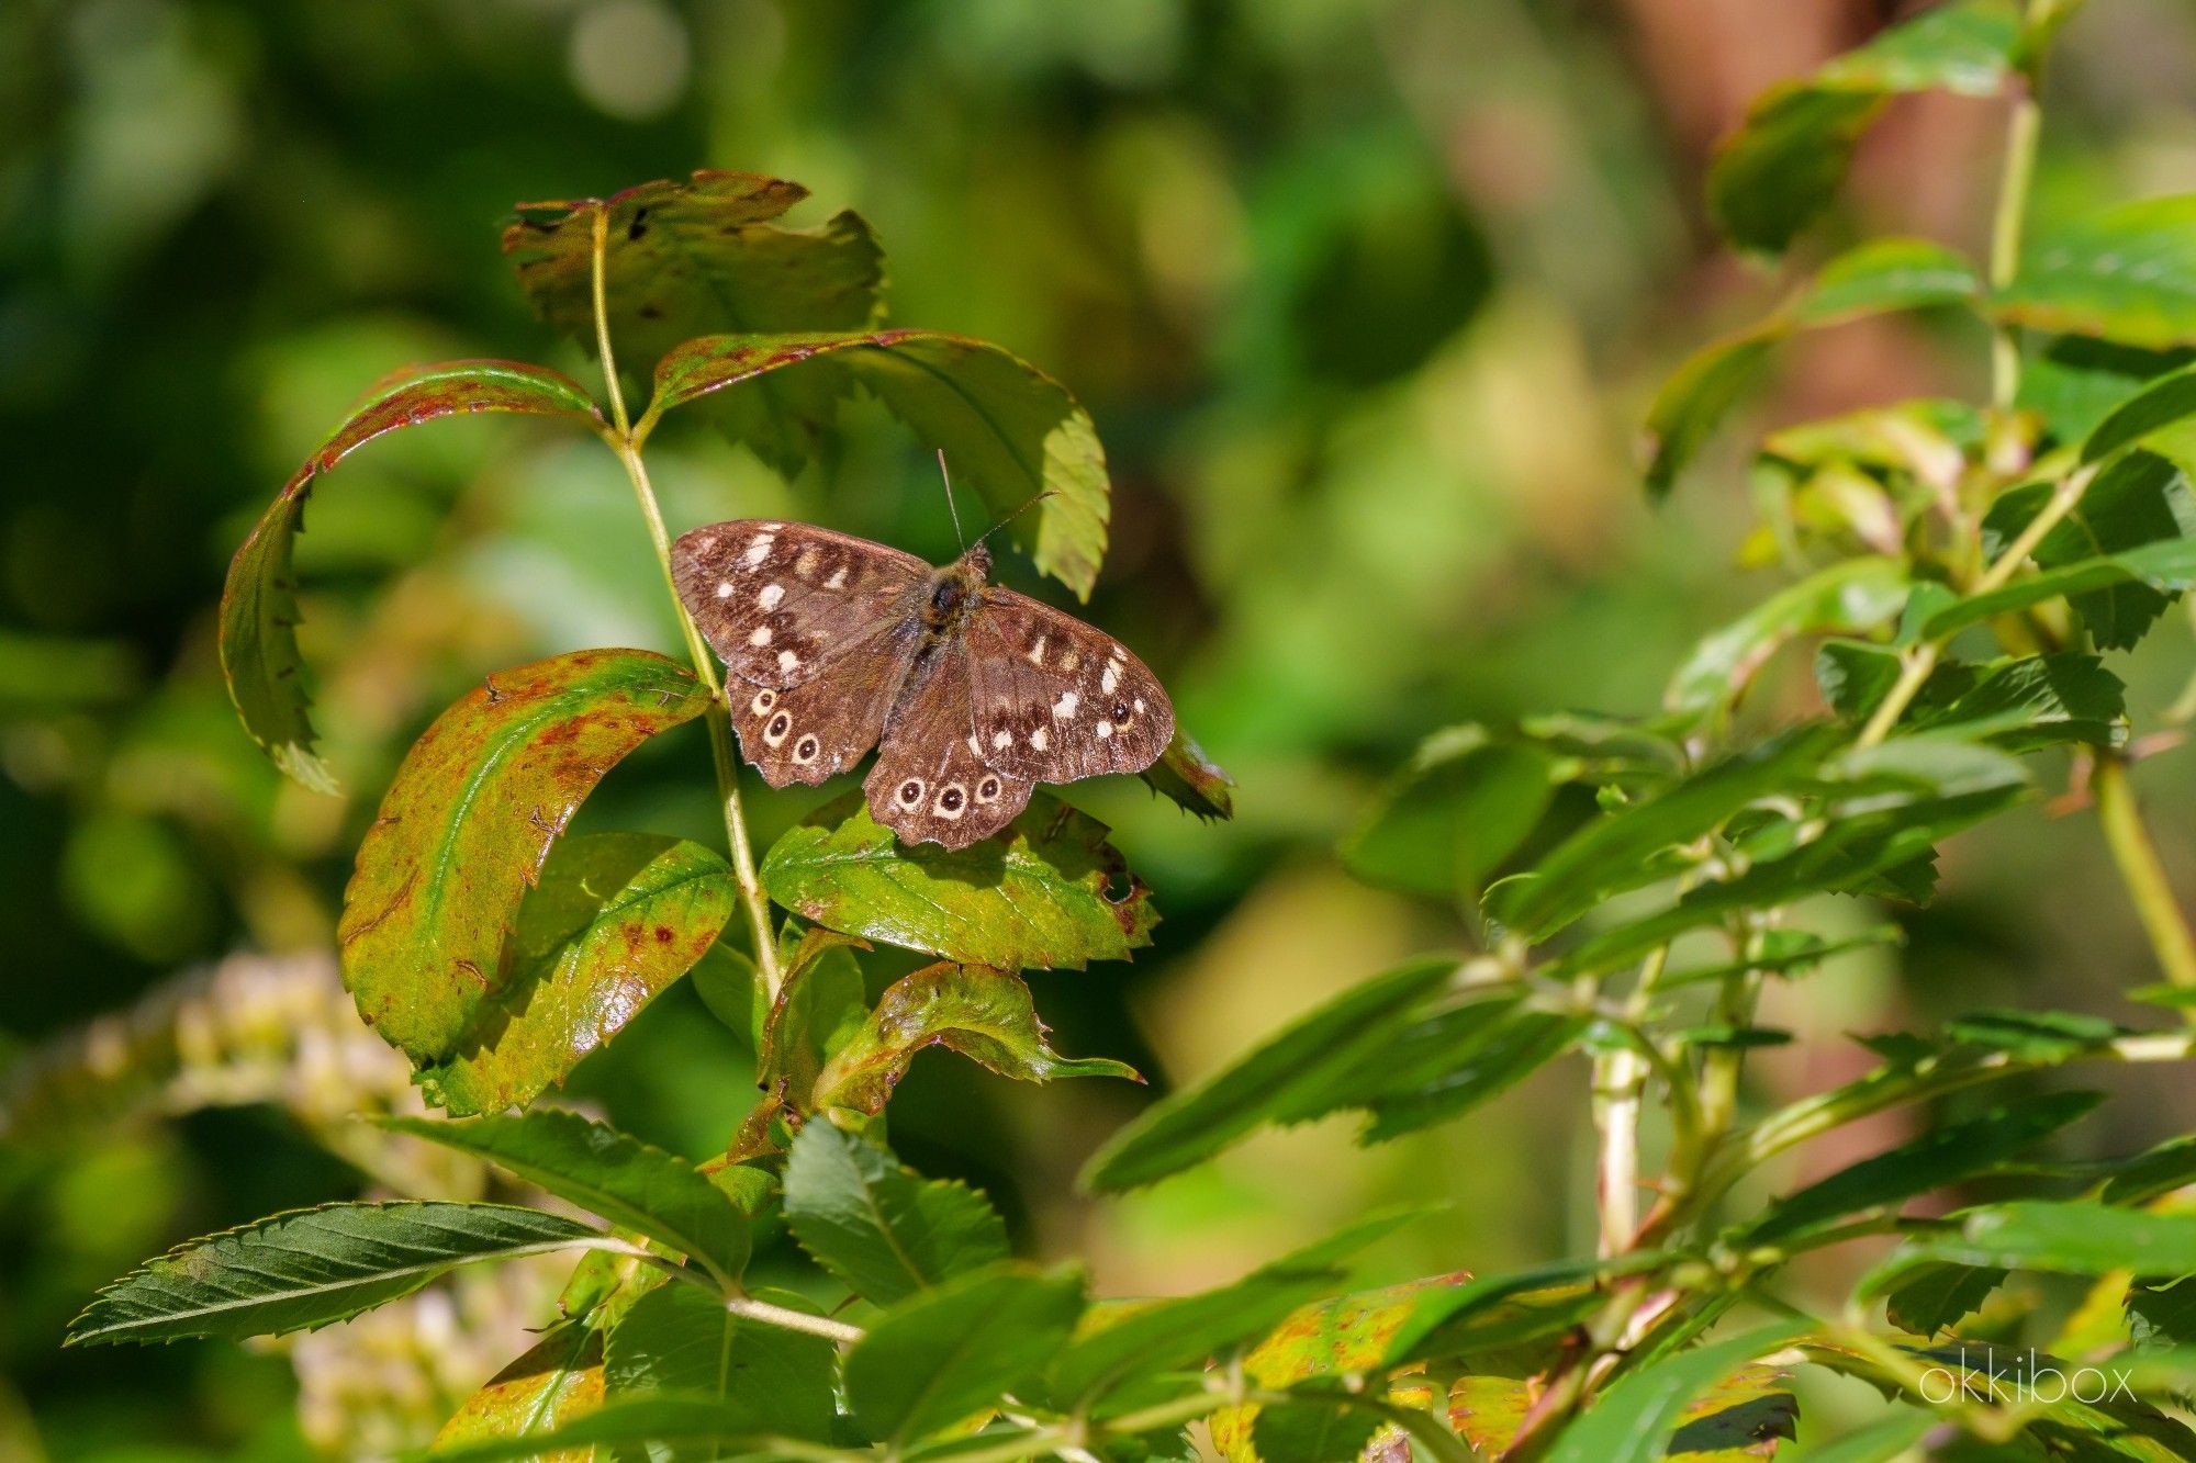
[[780, 690], [874, 655], [878, 635], [920, 615], [929, 576], [914, 554], [773, 518], [712, 523], [672, 545], [672, 582], [703, 639], [742, 681]]

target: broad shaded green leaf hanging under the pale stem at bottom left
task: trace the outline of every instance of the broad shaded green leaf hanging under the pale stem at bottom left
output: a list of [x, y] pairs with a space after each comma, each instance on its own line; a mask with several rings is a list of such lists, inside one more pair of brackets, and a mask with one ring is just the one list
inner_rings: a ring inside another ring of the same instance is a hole
[[[705, 1399], [722, 1404], [736, 1432], [828, 1443], [837, 1360], [837, 1347], [821, 1336], [740, 1320], [701, 1287], [670, 1281], [619, 1318], [604, 1377], [619, 1401], [648, 1393]], [[654, 1445], [648, 1456], [670, 1463], [716, 1454]]]

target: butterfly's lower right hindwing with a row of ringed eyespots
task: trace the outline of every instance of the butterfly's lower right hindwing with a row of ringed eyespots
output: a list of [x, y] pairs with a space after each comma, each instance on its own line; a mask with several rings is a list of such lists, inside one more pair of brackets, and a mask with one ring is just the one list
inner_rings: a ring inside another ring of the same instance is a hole
[[863, 793], [900, 841], [946, 848], [990, 837], [1030, 804], [1028, 778], [977, 756], [964, 639], [938, 644], [907, 679]]

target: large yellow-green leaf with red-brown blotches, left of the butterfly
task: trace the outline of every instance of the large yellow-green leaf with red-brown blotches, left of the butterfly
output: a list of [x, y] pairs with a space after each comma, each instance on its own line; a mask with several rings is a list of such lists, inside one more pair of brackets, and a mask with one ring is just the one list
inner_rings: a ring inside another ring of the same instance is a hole
[[501, 670], [437, 716], [343, 892], [343, 984], [367, 1024], [417, 1063], [461, 1052], [558, 833], [628, 751], [705, 705], [661, 655], [580, 650]]

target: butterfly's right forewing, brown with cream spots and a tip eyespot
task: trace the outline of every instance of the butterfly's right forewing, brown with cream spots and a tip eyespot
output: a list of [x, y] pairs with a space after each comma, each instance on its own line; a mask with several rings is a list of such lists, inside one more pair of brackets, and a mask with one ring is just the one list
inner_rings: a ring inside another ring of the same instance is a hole
[[986, 589], [968, 622], [984, 760], [1030, 782], [1138, 773], [1175, 736], [1175, 707], [1127, 646], [1050, 604]]

